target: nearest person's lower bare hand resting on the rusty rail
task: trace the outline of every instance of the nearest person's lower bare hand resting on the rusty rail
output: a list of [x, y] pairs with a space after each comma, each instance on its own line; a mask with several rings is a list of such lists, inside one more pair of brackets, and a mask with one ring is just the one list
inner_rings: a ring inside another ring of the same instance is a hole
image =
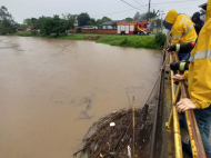
[[180, 113], [190, 109], [197, 109], [197, 106], [192, 102], [191, 99], [183, 98], [177, 103], [177, 111]]

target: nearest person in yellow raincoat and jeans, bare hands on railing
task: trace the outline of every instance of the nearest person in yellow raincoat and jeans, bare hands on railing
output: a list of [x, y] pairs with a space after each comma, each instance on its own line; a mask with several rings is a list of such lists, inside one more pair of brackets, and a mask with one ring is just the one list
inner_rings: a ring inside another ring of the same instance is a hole
[[205, 154], [211, 158], [211, 0], [207, 3], [207, 20], [189, 61], [189, 70], [183, 76], [175, 75], [172, 78], [175, 81], [188, 80], [189, 85], [190, 99], [181, 99], [177, 109], [179, 112], [194, 109]]

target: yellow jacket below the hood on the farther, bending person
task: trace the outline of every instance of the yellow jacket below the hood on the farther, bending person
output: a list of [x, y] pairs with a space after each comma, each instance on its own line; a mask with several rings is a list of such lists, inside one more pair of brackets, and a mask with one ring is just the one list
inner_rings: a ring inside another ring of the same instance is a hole
[[172, 29], [172, 45], [187, 43], [197, 39], [193, 22], [187, 14], [179, 14]]

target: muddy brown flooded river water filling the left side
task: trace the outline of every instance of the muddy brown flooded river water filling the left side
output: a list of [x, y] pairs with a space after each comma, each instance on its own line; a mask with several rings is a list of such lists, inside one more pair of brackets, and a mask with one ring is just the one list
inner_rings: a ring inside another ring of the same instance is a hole
[[0, 37], [0, 158], [71, 158], [90, 126], [147, 100], [161, 51]]

